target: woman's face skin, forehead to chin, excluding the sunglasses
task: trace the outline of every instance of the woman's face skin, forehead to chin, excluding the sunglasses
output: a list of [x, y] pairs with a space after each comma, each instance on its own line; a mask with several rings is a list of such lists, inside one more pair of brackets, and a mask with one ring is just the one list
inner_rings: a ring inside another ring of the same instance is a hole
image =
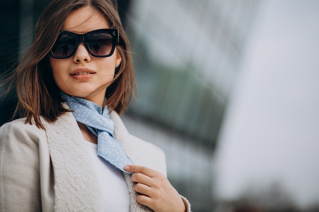
[[[95, 29], [110, 28], [100, 12], [83, 7], [70, 13], [64, 21], [63, 30], [85, 34]], [[109, 57], [94, 57], [80, 43], [76, 52], [66, 59], [50, 57], [52, 74], [62, 92], [103, 104], [107, 87], [99, 89], [114, 78], [115, 68], [121, 63], [121, 57], [115, 48]], [[98, 92], [96, 92], [98, 90]]]

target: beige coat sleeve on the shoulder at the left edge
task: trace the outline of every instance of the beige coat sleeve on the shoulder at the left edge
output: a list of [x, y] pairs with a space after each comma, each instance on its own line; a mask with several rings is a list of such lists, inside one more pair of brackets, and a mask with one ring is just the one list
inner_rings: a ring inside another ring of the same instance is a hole
[[41, 211], [38, 136], [23, 125], [0, 128], [0, 211]]

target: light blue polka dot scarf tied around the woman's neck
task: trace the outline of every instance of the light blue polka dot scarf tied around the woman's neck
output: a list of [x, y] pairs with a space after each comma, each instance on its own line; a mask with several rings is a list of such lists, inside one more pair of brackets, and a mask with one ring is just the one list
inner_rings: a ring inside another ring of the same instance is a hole
[[102, 111], [100, 106], [91, 101], [68, 96], [62, 92], [61, 97], [73, 110], [77, 122], [83, 123], [97, 136], [97, 155], [118, 169], [127, 172], [124, 170], [124, 166], [134, 163], [124, 153], [121, 144], [114, 138], [115, 123], [111, 119], [109, 109], [105, 106]]

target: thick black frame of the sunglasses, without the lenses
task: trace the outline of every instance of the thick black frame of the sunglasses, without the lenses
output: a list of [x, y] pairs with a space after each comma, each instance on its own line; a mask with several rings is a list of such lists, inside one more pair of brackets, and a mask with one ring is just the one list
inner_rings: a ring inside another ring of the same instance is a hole
[[[89, 48], [89, 44], [88, 44], [88, 38], [89, 36], [93, 35], [93, 34], [97, 34], [97, 33], [106, 33], [106, 34], [109, 34], [112, 36], [112, 49], [111, 49], [111, 52], [107, 55], [96, 55], [94, 54], [91, 49]], [[68, 56], [64, 56], [64, 57], [61, 57], [61, 56], [56, 56], [53, 52], [52, 52], [52, 49], [57, 45], [57, 43], [59, 42], [60, 40], [60, 37], [62, 35], [69, 35], [71, 37], [74, 38], [75, 40], [75, 46], [73, 48], [73, 51], [70, 53], [70, 55]], [[54, 47], [50, 50], [50, 56], [53, 57], [53, 58], [56, 58], [56, 59], [66, 59], [66, 58], [69, 58], [71, 56], [74, 55], [74, 53], [76, 52], [77, 50], [77, 47], [80, 43], [84, 43], [85, 45], [85, 48], [87, 49], [87, 51], [92, 55], [92, 56], [95, 56], [95, 57], [109, 57], [111, 56], [113, 53], [114, 53], [114, 50], [115, 50], [115, 47], [116, 45], [118, 44], [118, 40], [119, 40], [119, 32], [118, 32], [118, 29], [117, 28], [103, 28], [103, 29], [96, 29], [94, 31], [91, 31], [91, 32], [88, 32], [88, 33], [85, 33], [85, 34], [76, 34], [76, 33], [72, 33], [72, 32], [69, 32], [69, 31], [62, 31], [57, 40], [55, 41], [55, 44], [54, 44]]]

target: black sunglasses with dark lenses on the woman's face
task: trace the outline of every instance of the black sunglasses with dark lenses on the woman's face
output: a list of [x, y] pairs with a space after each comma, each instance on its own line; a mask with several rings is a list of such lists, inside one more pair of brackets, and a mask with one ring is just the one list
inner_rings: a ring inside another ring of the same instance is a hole
[[97, 29], [86, 34], [76, 34], [62, 31], [50, 51], [56, 59], [71, 57], [79, 43], [84, 43], [88, 52], [95, 57], [111, 56], [117, 45], [119, 32], [116, 28]]

